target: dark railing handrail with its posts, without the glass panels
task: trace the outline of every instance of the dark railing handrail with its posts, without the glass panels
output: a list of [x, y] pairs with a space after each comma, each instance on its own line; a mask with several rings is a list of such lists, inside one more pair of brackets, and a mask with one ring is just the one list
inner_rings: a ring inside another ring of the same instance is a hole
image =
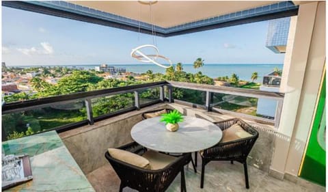
[[[51, 105], [64, 105], [69, 102], [76, 102], [81, 100], [81, 102], [85, 102], [85, 107], [87, 109], [87, 120], [89, 120], [90, 124], [93, 124], [94, 120], [97, 120], [97, 118], [94, 118], [92, 115], [92, 105], [91, 105], [92, 98], [99, 98], [103, 96], [134, 92], [135, 94], [134, 109], [140, 109], [140, 107], [143, 106], [140, 106], [139, 103], [139, 94], [138, 94], [139, 90], [146, 90], [153, 87], [160, 87], [160, 92], [161, 92], [160, 98], [159, 100], [156, 100], [154, 102], [161, 102], [165, 100], [164, 90], [163, 90], [164, 86], [168, 87], [167, 90], [169, 93], [168, 95], [169, 102], [174, 102], [174, 98], [172, 95], [174, 92], [173, 87], [206, 92], [206, 103], [204, 107], [206, 107], [208, 111], [211, 111], [213, 109], [213, 104], [210, 103], [210, 96], [213, 93], [232, 94], [237, 96], [247, 96], [253, 98], [269, 98], [269, 99], [277, 100], [277, 109], [276, 109], [274, 122], [275, 122], [275, 126], [279, 125], [282, 104], [284, 102], [284, 93], [267, 92], [261, 90], [250, 90], [250, 89], [243, 89], [243, 88], [236, 88], [236, 87], [221, 87], [215, 85], [186, 83], [186, 82], [178, 82], [178, 81], [159, 81], [153, 83], [143, 83], [137, 85], [128, 85], [124, 87], [114, 87], [105, 90], [95, 90], [90, 92], [80, 92], [80, 93], [67, 94], [62, 96], [52, 96], [48, 98], [38, 98], [33, 100], [23, 100], [18, 102], [4, 103], [2, 105], [2, 114], [27, 111], [31, 109], [40, 109], [42, 107], [49, 107]], [[104, 118], [106, 118], [107, 116], [109, 117], [111, 115], [112, 114], [105, 114]], [[273, 120], [270, 120], [270, 122], [273, 122]]]

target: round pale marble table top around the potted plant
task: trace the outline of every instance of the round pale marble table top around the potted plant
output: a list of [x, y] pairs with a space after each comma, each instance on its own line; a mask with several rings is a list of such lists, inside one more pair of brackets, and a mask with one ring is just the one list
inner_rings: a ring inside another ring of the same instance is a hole
[[141, 146], [160, 152], [187, 153], [215, 146], [222, 138], [221, 129], [207, 120], [184, 116], [176, 132], [167, 131], [161, 117], [143, 120], [131, 130]]

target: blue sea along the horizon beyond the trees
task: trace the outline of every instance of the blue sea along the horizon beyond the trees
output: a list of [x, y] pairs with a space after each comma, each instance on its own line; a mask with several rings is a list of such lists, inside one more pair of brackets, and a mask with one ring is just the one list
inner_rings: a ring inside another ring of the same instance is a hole
[[[43, 65], [42, 65], [43, 66]], [[58, 65], [59, 66], [59, 65]], [[98, 64], [93, 65], [60, 65], [68, 68], [83, 68], [85, 70], [94, 69]], [[147, 70], [152, 72], [165, 73], [165, 68], [153, 64], [109, 64], [116, 68], [126, 68], [127, 72], [143, 73]], [[13, 67], [13, 66], [8, 66]], [[36, 66], [15, 66], [20, 68], [29, 68]], [[274, 68], [282, 70], [283, 64], [204, 64], [201, 68], [193, 68], [193, 64], [182, 64], [182, 68], [185, 72], [196, 73], [201, 71], [202, 74], [206, 74], [208, 77], [217, 78], [222, 76], [230, 77], [232, 73], [236, 73], [239, 79], [245, 81], [251, 81], [251, 74], [258, 72], [258, 79], [255, 82], [262, 82], [263, 76], [273, 72]]]

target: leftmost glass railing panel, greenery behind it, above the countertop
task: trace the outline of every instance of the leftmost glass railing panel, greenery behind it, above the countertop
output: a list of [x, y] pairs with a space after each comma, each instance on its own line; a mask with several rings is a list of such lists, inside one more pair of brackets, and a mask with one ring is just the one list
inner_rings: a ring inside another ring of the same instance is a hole
[[2, 115], [2, 134], [5, 140], [16, 139], [83, 120], [87, 120], [83, 100], [53, 104]]

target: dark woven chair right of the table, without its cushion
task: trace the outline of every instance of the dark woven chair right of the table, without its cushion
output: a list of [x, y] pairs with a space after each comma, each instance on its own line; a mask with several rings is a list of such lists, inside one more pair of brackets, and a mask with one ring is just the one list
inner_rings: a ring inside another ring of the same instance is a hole
[[245, 183], [246, 188], [249, 189], [248, 173], [247, 173], [247, 156], [254, 146], [256, 139], [258, 139], [258, 131], [252, 128], [249, 124], [239, 120], [238, 118], [223, 120], [221, 122], [215, 122], [222, 131], [230, 128], [233, 124], [239, 124], [247, 133], [251, 134], [251, 137], [243, 139], [237, 139], [235, 141], [229, 141], [226, 143], [218, 143], [217, 145], [208, 148], [200, 153], [202, 156], [202, 175], [200, 181], [200, 188], [204, 187], [204, 172], [205, 165], [210, 161], [230, 161], [232, 164], [234, 161], [238, 161], [244, 165]]

